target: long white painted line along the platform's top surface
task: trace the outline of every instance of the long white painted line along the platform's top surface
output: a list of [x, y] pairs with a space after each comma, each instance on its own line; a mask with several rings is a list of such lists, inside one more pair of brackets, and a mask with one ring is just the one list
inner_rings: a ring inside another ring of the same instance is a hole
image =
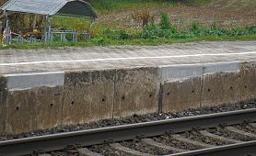
[[200, 56], [231, 56], [231, 55], [249, 55], [256, 54], [256, 51], [249, 52], [234, 52], [234, 53], [204, 53], [204, 54], [191, 54], [191, 55], [167, 55], [167, 56], [152, 56], [152, 57], [130, 57], [130, 58], [99, 58], [87, 60], [59, 60], [59, 61], [24, 61], [15, 63], [0, 63], [0, 66], [13, 66], [13, 65], [29, 65], [29, 64], [42, 64], [42, 63], [63, 63], [63, 62], [89, 62], [89, 61], [123, 61], [123, 60], [147, 60], [147, 59], [170, 59], [170, 58], [189, 58]]

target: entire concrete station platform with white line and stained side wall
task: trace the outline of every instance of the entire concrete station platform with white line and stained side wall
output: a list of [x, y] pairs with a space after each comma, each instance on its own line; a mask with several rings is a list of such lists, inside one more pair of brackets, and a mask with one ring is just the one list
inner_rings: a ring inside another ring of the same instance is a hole
[[0, 133], [250, 100], [255, 61], [256, 41], [2, 50]]

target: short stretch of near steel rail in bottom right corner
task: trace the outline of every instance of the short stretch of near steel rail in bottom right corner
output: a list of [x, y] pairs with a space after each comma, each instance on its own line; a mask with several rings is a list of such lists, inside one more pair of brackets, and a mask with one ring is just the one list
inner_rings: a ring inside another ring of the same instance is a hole
[[207, 148], [202, 150], [185, 151], [169, 156], [245, 156], [256, 155], [256, 140], [230, 144], [225, 146], [218, 146], [214, 148]]

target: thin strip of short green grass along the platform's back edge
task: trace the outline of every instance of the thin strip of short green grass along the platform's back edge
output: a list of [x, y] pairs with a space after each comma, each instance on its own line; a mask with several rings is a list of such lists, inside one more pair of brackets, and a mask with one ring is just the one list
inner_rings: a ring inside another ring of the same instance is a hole
[[87, 42], [55, 42], [51, 44], [12, 44], [6, 47], [0, 46], [0, 50], [7, 49], [64, 49], [64, 47], [92, 47], [92, 46], [111, 46], [111, 45], [138, 45], [138, 46], [157, 46], [161, 44], [185, 43], [192, 41], [234, 41], [234, 40], [255, 40], [256, 35], [246, 35], [237, 37], [194, 37], [191, 39], [91, 39]]

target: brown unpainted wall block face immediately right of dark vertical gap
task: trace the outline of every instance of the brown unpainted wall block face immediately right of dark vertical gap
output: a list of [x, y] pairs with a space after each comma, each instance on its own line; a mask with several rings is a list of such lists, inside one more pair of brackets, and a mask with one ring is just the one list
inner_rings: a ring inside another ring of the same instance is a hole
[[201, 79], [201, 77], [195, 77], [163, 84], [163, 112], [199, 108]]

